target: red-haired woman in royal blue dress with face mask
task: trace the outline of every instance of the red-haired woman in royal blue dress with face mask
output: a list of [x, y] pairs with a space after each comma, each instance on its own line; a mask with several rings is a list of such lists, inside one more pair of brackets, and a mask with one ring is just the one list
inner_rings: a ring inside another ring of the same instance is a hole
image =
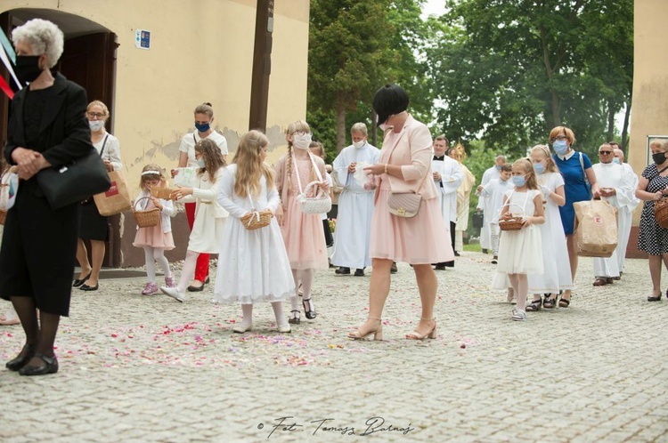
[[[575, 134], [566, 126], [557, 126], [550, 131], [550, 144], [554, 149], [554, 160], [559, 172], [564, 176], [564, 191], [566, 205], [559, 206], [561, 222], [566, 234], [568, 259], [571, 264], [571, 276], [575, 281], [577, 273], [577, 252], [575, 251], [574, 223], [575, 210], [573, 204], [590, 200], [593, 195], [599, 195], [599, 184], [596, 174], [591, 167], [591, 161], [586, 154], [574, 150]], [[591, 186], [591, 190], [590, 190]], [[571, 291], [566, 290], [559, 300], [560, 308], [567, 308], [571, 303]]]

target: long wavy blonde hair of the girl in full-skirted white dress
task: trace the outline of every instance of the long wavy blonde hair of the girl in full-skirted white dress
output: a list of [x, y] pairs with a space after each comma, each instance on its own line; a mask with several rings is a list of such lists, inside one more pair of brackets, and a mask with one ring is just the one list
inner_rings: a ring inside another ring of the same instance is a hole
[[265, 175], [266, 189], [273, 189], [273, 169], [265, 165], [260, 153], [269, 145], [264, 133], [249, 131], [241, 136], [232, 163], [237, 165], [234, 179], [234, 193], [241, 198], [248, 197], [248, 189], [253, 196], [260, 195], [260, 178]]

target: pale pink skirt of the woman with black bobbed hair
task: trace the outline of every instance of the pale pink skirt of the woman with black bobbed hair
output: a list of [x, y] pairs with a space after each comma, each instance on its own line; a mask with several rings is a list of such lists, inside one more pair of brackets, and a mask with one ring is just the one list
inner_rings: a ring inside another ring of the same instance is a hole
[[454, 260], [450, 234], [445, 230], [438, 198], [422, 200], [420, 211], [411, 218], [389, 212], [389, 189], [380, 189], [371, 219], [370, 255], [411, 264]]

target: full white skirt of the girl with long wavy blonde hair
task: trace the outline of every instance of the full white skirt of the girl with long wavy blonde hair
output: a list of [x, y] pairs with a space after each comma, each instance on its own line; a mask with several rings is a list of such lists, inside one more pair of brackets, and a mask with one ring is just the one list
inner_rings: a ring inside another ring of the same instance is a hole
[[247, 230], [240, 219], [230, 216], [223, 244], [215, 302], [282, 302], [295, 295], [295, 280], [276, 219], [265, 228]]

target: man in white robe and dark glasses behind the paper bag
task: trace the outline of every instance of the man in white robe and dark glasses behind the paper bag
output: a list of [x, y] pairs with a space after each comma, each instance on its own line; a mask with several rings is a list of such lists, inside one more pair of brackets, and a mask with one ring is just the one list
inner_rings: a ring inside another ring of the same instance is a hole
[[[629, 205], [635, 198], [633, 193], [633, 177], [622, 165], [613, 162], [613, 148], [605, 143], [599, 148], [600, 163], [593, 165], [596, 173], [596, 181], [599, 183], [599, 196], [601, 200], [606, 200], [610, 205], [617, 208], [618, 214], [620, 208]], [[594, 197], [597, 197], [596, 195]], [[619, 228], [619, 217], [617, 228]], [[619, 229], [618, 229], [619, 232]], [[617, 243], [615, 252], [610, 258], [594, 258], [594, 286], [604, 286], [613, 282], [614, 278], [619, 277], [618, 254], [625, 254], [620, 250], [620, 244]]]

